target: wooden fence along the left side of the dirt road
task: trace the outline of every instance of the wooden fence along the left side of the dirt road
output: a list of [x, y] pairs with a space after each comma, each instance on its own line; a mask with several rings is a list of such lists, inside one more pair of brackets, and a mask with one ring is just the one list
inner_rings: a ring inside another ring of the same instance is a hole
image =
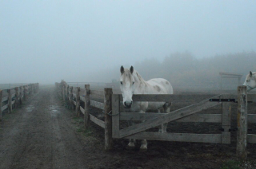
[[0, 120], [2, 120], [2, 112], [8, 109], [12, 112], [13, 108], [17, 108], [18, 104], [22, 104], [27, 96], [38, 92], [39, 84], [22, 85], [15, 88], [0, 90]]

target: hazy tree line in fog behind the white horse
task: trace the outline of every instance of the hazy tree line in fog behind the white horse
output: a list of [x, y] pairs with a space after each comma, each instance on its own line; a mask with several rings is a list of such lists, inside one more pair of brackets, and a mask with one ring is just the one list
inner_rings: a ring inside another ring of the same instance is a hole
[[172, 53], [163, 61], [147, 59], [136, 63], [134, 68], [145, 80], [162, 77], [174, 86], [218, 85], [219, 72], [242, 74], [243, 82], [250, 70], [256, 72], [256, 53], [230, 53], [200, 59], [189, 52]]

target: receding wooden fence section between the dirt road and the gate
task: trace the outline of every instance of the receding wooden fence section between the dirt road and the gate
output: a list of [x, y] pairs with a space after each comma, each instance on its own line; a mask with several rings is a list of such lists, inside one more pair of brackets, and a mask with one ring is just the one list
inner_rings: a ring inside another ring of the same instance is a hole
[[[104, 91], [90, 90], [90, 85], [85, 85], [85, 92], [82, 95], [80, 87], [73, 88], [66, 84], [65, 81], [62, 83], [55, 83], [58, 94], [62, 96], [63, 100], [67, 104], [70, 104], [70, 107], [74, 107], [78, 116], [80, 112], [84, 115], [84, 124], [85, 127], [88, 126], [89, 120], [97, 124], [101, 128], [105, 129], [105, 150], [110, 150], [113, 146], [112, 140], [112, 122], [111, 117], [108, 113], [104, 113], [105, 120], [100, 120], [96, 116], [93, 116], [90, 113], [90, 106], [94, 108], [102, 109], [103, 112], [111, 112], [111, 96], [113, 94], [112, 88], [104, 88]], [[90, 100], [90, 96], [96, 96], [100, 100], [104, 100], [104, 103]], [[84, 102], [84, 108], [80, 105], [80, 101]]]

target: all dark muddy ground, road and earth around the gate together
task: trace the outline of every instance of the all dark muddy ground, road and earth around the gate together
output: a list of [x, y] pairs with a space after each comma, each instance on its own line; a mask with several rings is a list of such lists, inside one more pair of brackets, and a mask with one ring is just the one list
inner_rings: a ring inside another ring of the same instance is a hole
[[[173, 104], [172, 110], [197, 101]], [[232, 106], [234, 128], [236, 104]], [[256, 104], [249, 111], [256, 113]], [[221, 107], [207, 112], [220, 113]], [[223, 168], [226, 161], [237, 160], [236, 132], [231, 132], [231, 144], [148, 141], [148, 150], [139, 151], [139, 141], [129, 149], [128, 140], [114, 140], [113, 151], [104, 151], [102, 128], [92, 123], [83, 128], [82, 117], [66, 108], [54, 88], [40, 88], [20, 108], [6, 113], [0, 125], [0, 168]], [[173, 122], [167, 132], [221, 133], [219, 128], [221, 124]], [[256, 133], [255, 124], [249, 128]], [[256, 144], [247, 147], [250, 168], [256, 168]]]

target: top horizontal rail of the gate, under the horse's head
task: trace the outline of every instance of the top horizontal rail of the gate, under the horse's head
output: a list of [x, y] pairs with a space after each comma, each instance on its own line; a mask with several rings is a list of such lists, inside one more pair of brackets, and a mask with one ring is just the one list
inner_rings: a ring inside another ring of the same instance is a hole
[[[120, 100], [122, 101], [122, 95], [120, 96]], [[171, 102], [180, 102], [180, 101], [186, 101], [186, 100], [202, 100], [203, 97], [210, 98], [213, 95], [193, 95], [193, 94], [188, 94], [188, 95], [174, 95], [174, 94], [134, 94], [133, 95], [133, 101], [154, 101], [154, 102], [166, 102], [166, 101], [171, 101]], [[218, 97], [217, 97], [218, 98]]]

